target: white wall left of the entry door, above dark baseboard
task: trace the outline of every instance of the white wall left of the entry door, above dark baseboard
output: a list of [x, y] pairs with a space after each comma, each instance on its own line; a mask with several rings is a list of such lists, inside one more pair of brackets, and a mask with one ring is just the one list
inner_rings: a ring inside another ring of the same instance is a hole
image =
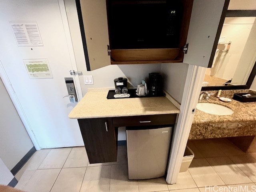
[[1, 78], [0, 93], [0, 158], [11, 170], [34, 145]]

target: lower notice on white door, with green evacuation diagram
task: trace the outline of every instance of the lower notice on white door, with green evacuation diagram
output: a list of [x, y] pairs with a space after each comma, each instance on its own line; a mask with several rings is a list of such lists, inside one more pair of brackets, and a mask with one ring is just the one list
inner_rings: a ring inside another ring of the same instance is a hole
[[23, 62], [31, 79], [52, 78], [48, 59], [23, 59]]

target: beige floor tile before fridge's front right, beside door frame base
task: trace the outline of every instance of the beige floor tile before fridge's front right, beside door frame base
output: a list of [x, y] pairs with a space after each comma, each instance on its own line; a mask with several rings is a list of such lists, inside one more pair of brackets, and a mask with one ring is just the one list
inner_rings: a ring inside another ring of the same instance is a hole
[[163, 177], [156, 179], [139, 180], [140, 192], [164, 191], [168, 190], [166, 181]]

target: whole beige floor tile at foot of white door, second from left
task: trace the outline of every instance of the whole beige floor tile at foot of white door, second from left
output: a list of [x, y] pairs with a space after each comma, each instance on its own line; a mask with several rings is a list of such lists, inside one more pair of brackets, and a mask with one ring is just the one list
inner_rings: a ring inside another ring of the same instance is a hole
[[62, 168], [72, 148], [52, 149], [38, 169]]

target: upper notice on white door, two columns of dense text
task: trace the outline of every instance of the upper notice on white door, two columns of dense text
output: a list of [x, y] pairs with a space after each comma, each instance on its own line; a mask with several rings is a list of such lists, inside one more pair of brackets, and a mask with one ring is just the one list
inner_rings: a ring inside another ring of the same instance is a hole
[[18, 46], [44, 46], [36, 21], [9, 21]]

